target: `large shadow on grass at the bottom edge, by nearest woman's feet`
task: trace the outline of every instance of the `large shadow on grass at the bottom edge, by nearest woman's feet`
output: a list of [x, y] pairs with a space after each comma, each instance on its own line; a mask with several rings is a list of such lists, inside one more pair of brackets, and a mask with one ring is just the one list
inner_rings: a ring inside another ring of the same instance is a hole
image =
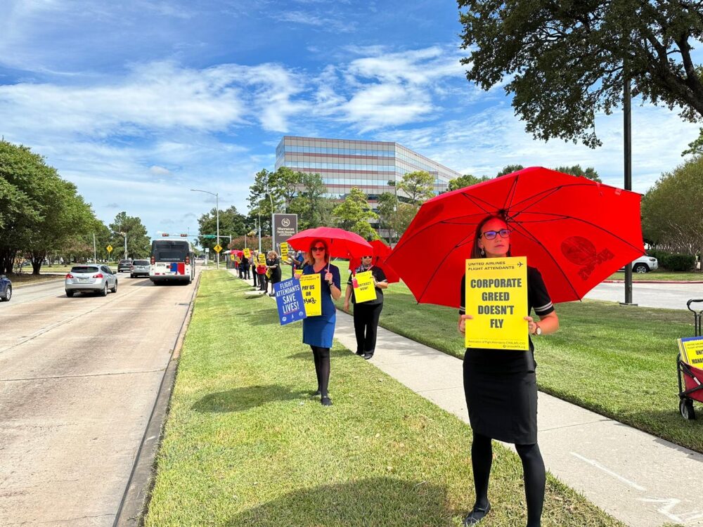
[[297, 490], [247, 510], [228, 527], [446, 526], [446, 490], [420, 481], [372, 478]]

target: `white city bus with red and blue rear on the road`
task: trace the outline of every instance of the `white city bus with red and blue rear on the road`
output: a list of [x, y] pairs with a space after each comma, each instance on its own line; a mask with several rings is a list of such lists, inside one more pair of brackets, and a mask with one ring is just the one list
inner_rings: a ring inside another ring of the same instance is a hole
[[195, 278], [195, 254], [188, 240], [162, 238], [151, 242], [149, 280], [155, 285], [180, 282], [189, 284]]

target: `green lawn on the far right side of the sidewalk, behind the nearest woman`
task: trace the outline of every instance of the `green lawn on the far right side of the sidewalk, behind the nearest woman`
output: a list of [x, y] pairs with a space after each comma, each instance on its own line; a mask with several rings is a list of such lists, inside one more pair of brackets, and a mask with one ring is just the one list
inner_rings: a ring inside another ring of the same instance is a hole
[[[703, 452], [703, 420], [678, 412], [676, 339], [693, 334], [689, 311], [595, 300], [555, 307], [559, 332], [534, 339], [539, 389]], [[457, 321], [457, 309], [418, 305], [403, 283], [386, 289], [382, 327], [463, 358]]]

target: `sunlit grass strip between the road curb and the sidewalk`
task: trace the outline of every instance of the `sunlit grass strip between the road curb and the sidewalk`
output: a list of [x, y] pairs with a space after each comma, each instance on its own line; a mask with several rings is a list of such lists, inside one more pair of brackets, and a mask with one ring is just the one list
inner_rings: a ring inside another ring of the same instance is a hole
[[[470, 428], [335, 344], [331, 408], [301, 325], [225, 272], [202, 275], [147, 526], [458, 526]], [[496, 448], [486, 527], [521, 525], [520, 460]], [[548, 478], [543, 526], [622, 526]]]

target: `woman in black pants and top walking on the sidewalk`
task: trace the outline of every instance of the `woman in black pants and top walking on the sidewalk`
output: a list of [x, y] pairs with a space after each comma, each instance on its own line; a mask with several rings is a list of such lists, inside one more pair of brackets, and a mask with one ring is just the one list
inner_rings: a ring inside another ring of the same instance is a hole
[[378, 318], [383, 309], [383, 289], [388, 287], [386, 275], [380, 267], [371, 265], [373, 256], [361, 256], [361, 266], [354, 269], [352, 275], [371, 271], [373, 285], [376, 287], [376, 299], [356, 304], [352, 275], [347, 280], [347, 291], [344, 292], [344, 311], [349, 311], [349, 299], [354, 304], [354, 333], [356, 334], [356, 355], [361, 355], [366, 360], [373, 357], [376, 349], [376, 332], [378, 331]]

